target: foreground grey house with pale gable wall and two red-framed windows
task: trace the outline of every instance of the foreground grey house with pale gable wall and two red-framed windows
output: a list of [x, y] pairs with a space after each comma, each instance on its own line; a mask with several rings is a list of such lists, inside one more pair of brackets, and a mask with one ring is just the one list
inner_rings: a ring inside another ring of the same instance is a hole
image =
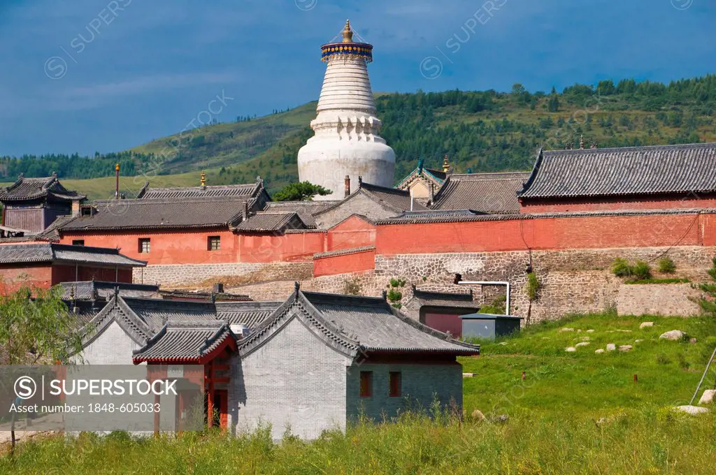
[[437, 398], [463, 403], [456, 358], [479, 346], [402, 315], [384, 298], [296, 291], [243, 341], [231, 362], [233, 431], [271, 424], [314, 439], [363, 413], [381, 420]]

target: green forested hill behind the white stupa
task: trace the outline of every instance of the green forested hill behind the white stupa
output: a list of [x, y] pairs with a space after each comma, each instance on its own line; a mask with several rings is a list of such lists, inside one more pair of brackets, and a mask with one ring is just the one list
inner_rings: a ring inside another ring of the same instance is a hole
[[[315, 105], [238, 117], [116, 154], [2, 157], [0, 180], [52, 171], [65, 179], [106, 177], [120, 162], [126, 176], [209, 170], [213, 184], [261, 175], [275, 190], [296, 179], [296, 153], [311, 136]], [[669, 84], [608, 80], [562, 92], [530, 93], [515, 84], [510, 93], [377, 94], [377, 108], [382, 136], [396, 153], [397, 180], [418, 157], [437, 167], [445, 154], [460, 172], [528, 170], [536, 147], [576, 147], [581, 135], [587, 147], [716, 141], [716, 75]]]

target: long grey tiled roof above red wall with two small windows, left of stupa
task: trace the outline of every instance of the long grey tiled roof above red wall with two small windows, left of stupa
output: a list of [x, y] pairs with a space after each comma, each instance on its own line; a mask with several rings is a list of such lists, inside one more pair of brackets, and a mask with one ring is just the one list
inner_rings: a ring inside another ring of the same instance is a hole
[[115, 229], [228, 227], [241, 220], [241, 198], [107, 200], [97, 202], [92, 216], [60, 226], [62, 232]]

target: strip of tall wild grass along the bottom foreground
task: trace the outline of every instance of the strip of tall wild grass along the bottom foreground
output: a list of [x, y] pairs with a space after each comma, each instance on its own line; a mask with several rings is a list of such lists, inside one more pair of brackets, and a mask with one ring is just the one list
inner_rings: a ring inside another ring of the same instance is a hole
[[[469, 419], [469, 418], [468, 418]], [[0, 459], [4, 474], [713, 474], [716, 417], [654, 408], [609, 421], [541, 418], [460, 421], [405, 414], [398, 423], [361, 421], [279, 443], [261, 429], [133, 439], [123, 434], [53, 436]]]

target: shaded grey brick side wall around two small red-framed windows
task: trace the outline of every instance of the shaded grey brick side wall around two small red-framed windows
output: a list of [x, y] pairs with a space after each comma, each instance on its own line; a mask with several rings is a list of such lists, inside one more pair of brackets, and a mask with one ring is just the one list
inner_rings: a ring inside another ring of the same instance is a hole
[[[371, 371], [372, 396], [360, 396], [360, 373]], [[401, 374], [401, 396], [391, 397], [390, 372]], [[434, 398], [442, 408], [450, 408], [454, 399], [458, 408], [463, 407], [463, 366], [460, 363], [445, 364], [384, 364], [367, 361], [349, 368], [347, 376], [347, 420], [357, 421], [360, 415], [382, 421], [384, 416], [394, 417], [412, 406], [430, 411]], [[408, 399], [410, 403], [408, 403]]]

